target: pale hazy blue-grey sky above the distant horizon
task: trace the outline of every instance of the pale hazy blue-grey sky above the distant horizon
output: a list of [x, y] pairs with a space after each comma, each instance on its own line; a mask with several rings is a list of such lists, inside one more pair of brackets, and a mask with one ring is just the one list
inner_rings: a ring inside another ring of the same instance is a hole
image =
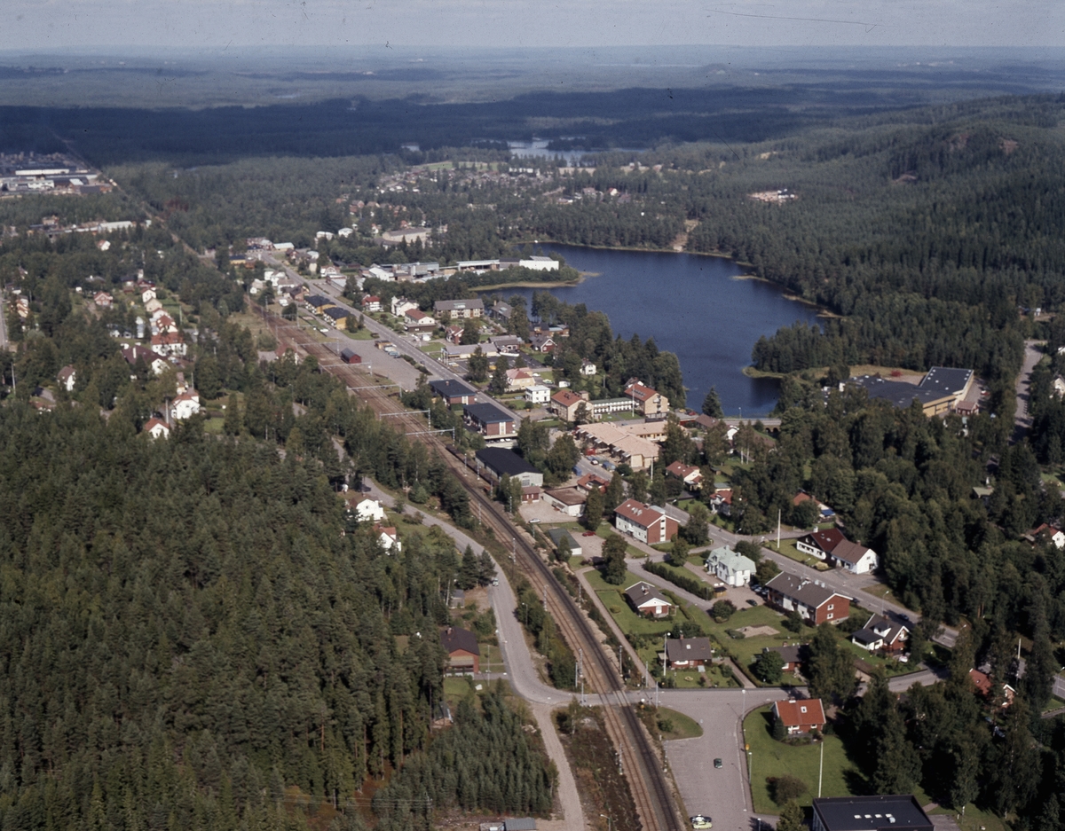
[[0, 50], [1063, 47], [1065, 0], [4, 0]]

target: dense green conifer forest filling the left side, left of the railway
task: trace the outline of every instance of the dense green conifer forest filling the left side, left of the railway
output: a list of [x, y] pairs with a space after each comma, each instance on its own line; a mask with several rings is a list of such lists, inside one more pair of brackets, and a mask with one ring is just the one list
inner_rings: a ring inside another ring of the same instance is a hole
[[[23, 235], [0, 249], [4, 279], [32, 298], [0, 406], [0, 825], [298, 828], [315, 815], [408, 829], [437, 809], [548, 811], [542, 748], [498, 696], [430, 733], [442, 586], [461, 575], [453, 541], [411, 528], [386, 554], [337, 495], [373, 475], [472, 527], [454, 476], [313, 360], [261, 365], [266, 345], [229, 318], [240, 289], [167, 232], [111, 242]], [[110, 330], [132, 312], [91, 313], [73, 290], [138, 268], [162, 297], [181, 293], [197, 386], [229, 403], [223, 435], [202, 416], [168, 442], [138, 433], [174, 372], [131, 373]], [[68, 362], [78, 384], [53, 412], [26, 403]]]

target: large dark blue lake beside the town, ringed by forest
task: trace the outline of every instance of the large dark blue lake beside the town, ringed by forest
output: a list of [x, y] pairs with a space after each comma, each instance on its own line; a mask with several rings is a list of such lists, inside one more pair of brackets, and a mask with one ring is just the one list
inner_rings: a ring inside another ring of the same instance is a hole
[[[726, 415], [767, 415], [776, 404], [773, 379], [743, 375], [751, 349], [797, 320], [817, 322], [817, 310], [787, 300], [760, 280], [739, 280], [742, 269], [731, 260], [695, 254], [601, 251], [577, 246], [544, 246], [589, 277], [575, 286], [552, 288], [559, 300], [605, 312], [615, 335], [654, 336], [659, 349], [681, 360], [688, 406], [698, 411], [716, 386]], [[501, 289], [505, 298], [536, 289]]]

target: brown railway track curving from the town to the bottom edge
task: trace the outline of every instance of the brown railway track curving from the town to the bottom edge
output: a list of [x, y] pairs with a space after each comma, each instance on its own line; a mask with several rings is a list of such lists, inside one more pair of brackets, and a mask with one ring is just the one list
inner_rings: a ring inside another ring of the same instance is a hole
[[517, 564], [535, 585], [545, 586], [547, 609], [555, 618], [562, 637], [576, 652], [584, 654], [585, 680], [593, 692], [599, 693], [604, 703], [603, 713], [607, 734], [618, 750], [621, 769], [628, 782], [633, 801], [644, 831], [681, 831], [684, 827], [676, 811], [662, 763], [655, 751], [643, 724], [633, 705], [624, 698], [624, 683], [620, 668], [603, 647], [602, 635], [580, 611], [570, 594], [559, 584], [547, 564], [540, 559], [536, 549], [511, 525], [501, 505], [494, 502], [465, 476], [466, 465], [453, 453], [447, 452], [440, 436], [426, 434], [422, 418], [405, 410], [397, 398], [390, 396], [374, 383], [373, 377], [360, 364], [345, 364], [340, 356], [314, 339], [311, 334], [288, 321], [255, 306], [267, 321], [279, 344], [293, 347], [318, 361], [324, 370], [340, 378], [349, 389], [370, 404], [378, 415], [388, 415], [393, 423], [405, 433], [440, 451], [440, 456], [458, 473], [470, 499], [476, 502], [480, 521], [491, 527], [497, 538], [510, 536], [515, 541]]

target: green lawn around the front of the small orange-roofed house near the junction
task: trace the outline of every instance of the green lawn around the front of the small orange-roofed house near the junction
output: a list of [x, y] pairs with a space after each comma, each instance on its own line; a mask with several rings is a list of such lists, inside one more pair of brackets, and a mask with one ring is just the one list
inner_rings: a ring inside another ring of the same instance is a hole
[[[743, 741], [750, 747], [751, 796], [758, 813], [779, 814], [780, 807], [769, 797], [766, 779], [787, 774], [806, 783], [806, 793], [797, 801], [809, 805], [818, 795], [817, 779], [821, 764], [821, 744], [804, 746], [786, 745], [772, 735], [770, 708], [755, 710], [743, 719]], [[838, 736], [823, 739], [824, 774], [821, 796], [852, 796], [863, 793], [864, 777], [847, 758], [843, 743]], [[920, 799], [920, 797], [918, 797]], [[927, 800], [925, 800], [927, 801]]]

